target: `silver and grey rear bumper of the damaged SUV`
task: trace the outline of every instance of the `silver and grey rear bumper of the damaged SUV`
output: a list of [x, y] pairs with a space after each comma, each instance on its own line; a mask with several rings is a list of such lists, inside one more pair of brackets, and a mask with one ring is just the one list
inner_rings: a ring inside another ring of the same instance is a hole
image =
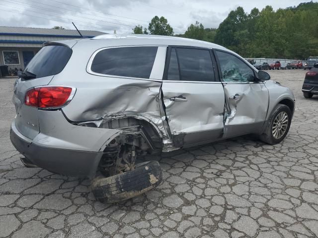
[[61, 111], [38, 111], [40, 132], [26, 137], [14, 119], [10, 139], [32, 164], [48, 171], [92, 178], [107, 144], [121, 133], [117, 129], [83, 127], [70, 123]]

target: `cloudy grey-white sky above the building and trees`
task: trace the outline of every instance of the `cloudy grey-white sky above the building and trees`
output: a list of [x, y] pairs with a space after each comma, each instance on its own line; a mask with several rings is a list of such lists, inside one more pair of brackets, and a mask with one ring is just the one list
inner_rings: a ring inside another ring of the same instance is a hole
[[274, 10], [309, 0], [0, 0], [0, 26], [52, 28], [129, 34], [136, 25], [148, 27], [158, 15], [167, 18], [175, 34], [195, 21], [217, 28], [231, 10], [245, 12], [271, 5]]

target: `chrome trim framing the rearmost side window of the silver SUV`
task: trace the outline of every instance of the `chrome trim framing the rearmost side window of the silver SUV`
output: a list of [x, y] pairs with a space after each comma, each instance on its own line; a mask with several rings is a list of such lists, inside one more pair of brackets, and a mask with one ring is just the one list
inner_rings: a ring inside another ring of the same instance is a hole
[[[120, 75], [111, 75], [111, 74], [96, 73], [96, 72], [94, 72], [94, 71], [91, 70], [91, 64], [92, 64], [92, 62], [93, 62], [95, 56], [96, 56], [100, 51], [107, 50], [107, 49], [113, 49], [113, 48], [124, 48], [124, 47], [158, 47], [158, 50], [159, 50], [159, 47], [167, 47], [167, 46], [162, 46], [162, 45], [138, 45], [138, 46], [128, 45], [128, 46], [111, 46], [111, 47], [100, 48], [100, 49], [96, 50], [96, 51], [91, 55], [91, 57], [89, 58], [89, 60], [88, 60], [88, 62], [87, 62], [87, 66], [86, 66], [86, 71], [87, 71], [87, 73], [92, 74], [92, 75], [96, 75], [96, 76], [103, 76], [103, 77], [125, 78], [125, 79], [137, 79], [137, 80], [147, 80], [147, 81], [162, 82], [162, 77], [161, 77], [161, 79], [136, 78], [136, 77], [126, 77], [126, 76], [120, 76]], [[157, 58], [157, 55], [158, 55], [158, 50], [157, 50], [156, 58]], [[156, 61], [156, 58], [155, 58], [155, 61]], [[165, 58], [164, 58], [164, 59], [165, 59]], [[155, 61], [154, 61], [154, 65], [155, 65]], [[153, 65], [152, 71], [151, 71], [151, 73], [150, 73], [150, 76], [152, 76], [152, 73], [153, 73], [153, 70], [154, 70], [154, 65]]]

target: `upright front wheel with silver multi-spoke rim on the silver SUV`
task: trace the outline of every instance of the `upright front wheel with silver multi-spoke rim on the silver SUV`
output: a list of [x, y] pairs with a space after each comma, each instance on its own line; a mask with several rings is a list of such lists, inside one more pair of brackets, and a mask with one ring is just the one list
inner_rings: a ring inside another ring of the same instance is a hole
[[292, 120], [292, 112], [289, 107], [283, 104], [278, 104], [262, 135], [260, 140], [267, 144], [274, 145], [280, 143], [287, 135]]

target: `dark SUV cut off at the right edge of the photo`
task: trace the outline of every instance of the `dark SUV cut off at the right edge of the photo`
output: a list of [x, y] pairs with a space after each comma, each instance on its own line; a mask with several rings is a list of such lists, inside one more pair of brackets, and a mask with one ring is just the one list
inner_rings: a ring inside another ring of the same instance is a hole
[[318, 63], [306, 73], [303, 93], [305, 98], [312, 98], [314, 94], [318, 94]]

